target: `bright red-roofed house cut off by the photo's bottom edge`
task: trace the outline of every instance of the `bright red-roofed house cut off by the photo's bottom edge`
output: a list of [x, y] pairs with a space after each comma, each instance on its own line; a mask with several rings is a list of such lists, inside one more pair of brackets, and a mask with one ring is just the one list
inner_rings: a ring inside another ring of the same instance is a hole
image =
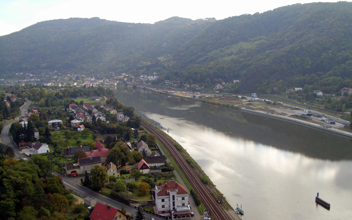
[[104, 205], [98, 202], [89, 218], [91, 220], [127, 220], [127, 215], [111, 205]]

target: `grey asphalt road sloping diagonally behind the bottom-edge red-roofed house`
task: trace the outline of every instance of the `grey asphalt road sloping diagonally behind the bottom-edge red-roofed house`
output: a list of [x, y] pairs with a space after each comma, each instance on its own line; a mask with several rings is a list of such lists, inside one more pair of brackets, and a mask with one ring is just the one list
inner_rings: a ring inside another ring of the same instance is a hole
[[[136, 214], [136, 209], [132, 207], [128, 207], [125, 204], [122, 204], [120, 202], [117, 202], [115, 200], [112, 200], [106, 196], [103, 196], [89, 188], [83, 187], [82, 185], [78, 184], [78, 182], [81, 181], [81, 177], [70, 177], [70, 176], [62, 176], [61, 174], [57, 172], [53, 172], [54, 175], [61, 176], [62, 180], [64, 182], [64, 185], [68, 189], [72, 189], [76, 194], [81, 195], [81, 196], [93, 196], [94, 198], [97, 199], [98, 202], [103, 203], [103, 204], [110, 204], [115, 208], [118, 208], [121, 210], [122, 206], [127, 211], [127, 214]], [[146, 220], [151, 220], [151, 218], [154, 218], [155, 220], [165, 220], [163, 218], [160, 218], [155, 215], [150, 215], [149, 213], [144, 213], [145, 219]]]

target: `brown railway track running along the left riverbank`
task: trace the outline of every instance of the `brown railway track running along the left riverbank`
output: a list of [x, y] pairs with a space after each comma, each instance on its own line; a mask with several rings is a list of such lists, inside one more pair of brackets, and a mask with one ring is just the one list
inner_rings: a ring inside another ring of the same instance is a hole
[[187, 161], [183, 158], [176, 147], [170, 142], [170, 140], [164, 137], [157, 129], [150, 126], [146, 122], [141, 120], [141, 124], [151, 133], [153, 133], [166, 147], [166, 149], [168, 149], [171, 156], [174, 158], [178, 166], [180, 166], [188, 181], [194, 186], [194, 190], [198, 193], [200, 199], [208, 208], [212, 216], [214, 216], [216, 220], [233, 220], [220, 206], [220, 204], [214, 200], [213, 196], [209, 193], [208, 187], [202, 183], [196, 172], [187, 163]]

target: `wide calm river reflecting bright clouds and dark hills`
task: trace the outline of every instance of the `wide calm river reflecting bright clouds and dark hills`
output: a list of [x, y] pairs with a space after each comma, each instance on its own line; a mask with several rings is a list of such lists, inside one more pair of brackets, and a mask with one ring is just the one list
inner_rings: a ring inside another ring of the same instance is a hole
[[[114, 92], [169, 128], [231, 206], [242, 205], [242, 219], [352, 219], [350, 139], [147, 89]], [[330, 210], [316, 205], [318, 192]]]

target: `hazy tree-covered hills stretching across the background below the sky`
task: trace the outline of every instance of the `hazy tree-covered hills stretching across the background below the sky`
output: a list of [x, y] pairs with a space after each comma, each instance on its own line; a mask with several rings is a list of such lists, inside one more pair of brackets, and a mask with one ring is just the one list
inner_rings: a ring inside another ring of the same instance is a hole
[[1, 75], [157, 72], [237, 93], [352, 87], [352, 2], [295, 4], [223, 20], [172, 17], [155, 24], [99, 18], [44, 21], [0, 37]]

